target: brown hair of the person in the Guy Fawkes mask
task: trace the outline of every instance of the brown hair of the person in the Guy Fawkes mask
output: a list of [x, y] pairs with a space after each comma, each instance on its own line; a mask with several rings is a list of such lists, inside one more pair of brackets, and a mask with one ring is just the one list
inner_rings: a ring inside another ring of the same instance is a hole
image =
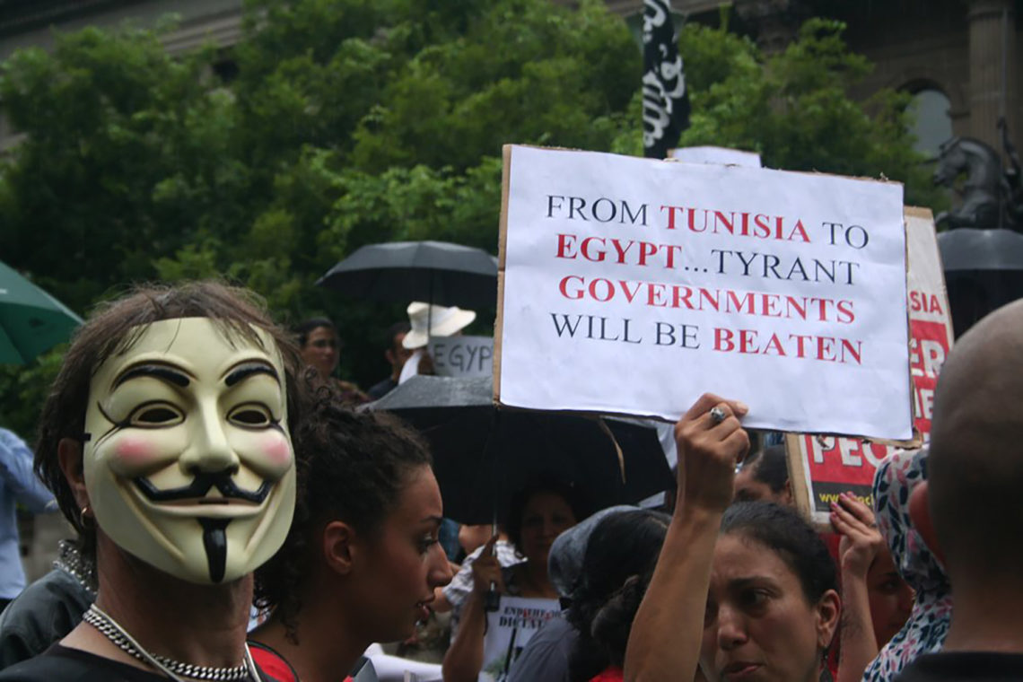
[[262, 299], [253, 291], [212, 280], [146, 284], [100, 304], [76, 330], [50, 388], [39, 418], [35, 458], [36, 473], [53, 492], [60, 511], [78, 532], [80, 549], [90, 557], [95, 548], [95, 528], [82, 524], [75, 493], [60, 469], [57, 444], [64, 438], [82, 442], [89, 384], [99, 366], [107, 358], [130, 350], [149, 324], [184, 317], [210, 318], [228, 340], [241, 338], [261, 348], [263, 339], [253, 327], [265, 330], [283, 359], [290, 423], [300, 416], [302, 400], [295, 380], [298, 349], [291, 336], [273, 323]]

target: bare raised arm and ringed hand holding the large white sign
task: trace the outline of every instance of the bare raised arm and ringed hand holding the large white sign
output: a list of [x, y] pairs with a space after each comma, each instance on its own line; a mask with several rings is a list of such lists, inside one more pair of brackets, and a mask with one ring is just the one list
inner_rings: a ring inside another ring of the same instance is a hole
[[714, 543], [731, 502], [736, 465], [750, 447], [739, 422], [746, 412], [742, 403], [704, 394], [675, 424], [678, 498], [632, 623], [626, 682], [696, 676]]

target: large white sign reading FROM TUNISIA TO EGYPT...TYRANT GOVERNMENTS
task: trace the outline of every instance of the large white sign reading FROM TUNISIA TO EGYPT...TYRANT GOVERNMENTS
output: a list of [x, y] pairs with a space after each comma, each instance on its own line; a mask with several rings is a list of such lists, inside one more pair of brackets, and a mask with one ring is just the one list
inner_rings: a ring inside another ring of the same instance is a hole
[[911, 436], [901, 185], [506, 146], [503, 199], [501, 403]]

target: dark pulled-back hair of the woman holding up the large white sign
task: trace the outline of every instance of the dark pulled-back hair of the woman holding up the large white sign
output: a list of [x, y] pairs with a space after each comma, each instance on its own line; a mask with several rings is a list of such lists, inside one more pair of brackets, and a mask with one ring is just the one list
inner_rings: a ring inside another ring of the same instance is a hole
[[838, 591], [835, 561], [817, 532], [794, 509], [773, 502], [738, 502], [721, 518], [721, 535], [739, 534], [772, 550], [799, 578], [803, 595], [815, 604]]

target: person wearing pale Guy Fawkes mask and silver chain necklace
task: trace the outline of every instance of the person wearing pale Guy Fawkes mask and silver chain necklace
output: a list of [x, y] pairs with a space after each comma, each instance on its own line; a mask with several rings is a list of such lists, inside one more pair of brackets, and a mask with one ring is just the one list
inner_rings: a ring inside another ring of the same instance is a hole
[[36, 469], [95, 556], [95, 602], [0, 680], [257, 682], [252, 572], [295, 506], [298, 350], [250, 291], [140, 287], [79, 327]]

